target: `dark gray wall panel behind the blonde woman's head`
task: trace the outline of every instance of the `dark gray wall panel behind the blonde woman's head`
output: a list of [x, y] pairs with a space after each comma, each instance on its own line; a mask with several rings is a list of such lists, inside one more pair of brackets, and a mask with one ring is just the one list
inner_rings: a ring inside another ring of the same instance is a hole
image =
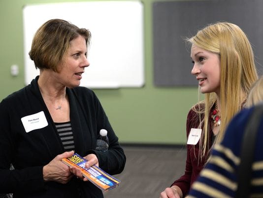
[[154, 83], [191, 86], [191, 37], [209, 23], [227, 21], [248, 35], [259, 74], [263, 74], [263, 0], [157, 1], [153, 3]]

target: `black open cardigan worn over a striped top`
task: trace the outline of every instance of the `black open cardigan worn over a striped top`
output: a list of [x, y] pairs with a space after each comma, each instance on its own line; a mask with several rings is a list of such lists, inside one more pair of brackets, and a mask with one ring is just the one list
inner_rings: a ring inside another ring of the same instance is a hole
[[[0, 193], [14, 198], [103, 198], [91, 182], [72, 179], [67, 184], [44, 182], [42, 169], [64, 148], [40, 94], [38, 77], [0, 103]], [[75, 152], [96, 154], [109, 174], [122, 172], [126, 157], [95, 93], [86, 87], [66, 88]], [[21, 118], [43, 111], [48, 125], [26, 132]], [[108, 131], [109, 149], [95, 150], [100, 129]], [[10, 163], [15, 170], [9, 170]]]

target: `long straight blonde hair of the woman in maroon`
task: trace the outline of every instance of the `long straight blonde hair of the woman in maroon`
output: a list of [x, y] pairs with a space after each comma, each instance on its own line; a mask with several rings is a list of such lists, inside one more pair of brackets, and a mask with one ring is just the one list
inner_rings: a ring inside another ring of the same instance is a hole
[[[251, 85], [258, 79], [253, 50], [245, 33], [237, 25], [227, 22], [208, 25], [187, 41], [220, 55], [221, 125], [214, 142], [218, 143], [230, 119], [241, 110]], [[203, 120], [199, 120], [203, 123], [201, 157], [209, 150], [209, 114], [215, 101], [214, 92], [205, 93], [204, 101], [199, 103], [204, 103], [201, 105], [204, 108], [194, 108], [197, 113], [204, 114]]]

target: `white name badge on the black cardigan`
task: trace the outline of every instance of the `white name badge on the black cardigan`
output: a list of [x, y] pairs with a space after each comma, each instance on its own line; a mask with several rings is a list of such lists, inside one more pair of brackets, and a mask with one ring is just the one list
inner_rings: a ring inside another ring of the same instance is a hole
[[35, 129], [44, 128], [48, 125], [43, 111], [32, 114], [30, 116], [25, 116], [21, 118], [21, 121], [27, 133]]

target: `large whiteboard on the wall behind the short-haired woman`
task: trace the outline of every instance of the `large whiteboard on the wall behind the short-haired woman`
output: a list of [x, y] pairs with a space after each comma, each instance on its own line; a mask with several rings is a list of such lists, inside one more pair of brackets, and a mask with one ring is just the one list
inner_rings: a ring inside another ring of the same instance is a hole
[[25, 83], [39, 70], [29, 57], [33, 36], [46, 21], [60, 18], [91, 31], [90, 66], [80, 85], [90, 88], [144, 85], [143, 5], [139, 1], [31, 4], [23, 8]]

